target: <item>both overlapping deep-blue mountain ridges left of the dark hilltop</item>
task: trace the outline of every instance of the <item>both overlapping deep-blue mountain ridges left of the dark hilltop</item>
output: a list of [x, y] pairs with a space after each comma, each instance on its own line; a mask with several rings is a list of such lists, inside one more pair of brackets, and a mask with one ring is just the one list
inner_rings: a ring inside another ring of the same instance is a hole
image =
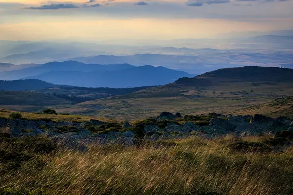
[[112, 88], [164, 85], [182, 77], [192, 75], [149, 65], [100, 65], [77, 61], [50, 62], [37, 67], [0, 72], [0, 78], [3, 80], [38, 79], [60, 85]]

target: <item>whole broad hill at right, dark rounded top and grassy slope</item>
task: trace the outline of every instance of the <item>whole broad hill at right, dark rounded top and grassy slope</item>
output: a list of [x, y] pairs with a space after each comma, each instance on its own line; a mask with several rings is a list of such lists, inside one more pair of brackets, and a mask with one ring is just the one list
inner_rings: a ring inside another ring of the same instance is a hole
[[293, 70], [273, 67], [219, 69], [194, 78], [60, 109], [134, 120], [170, 111], [183, 114], [250, 113], [246, 108], [293, 95]]

